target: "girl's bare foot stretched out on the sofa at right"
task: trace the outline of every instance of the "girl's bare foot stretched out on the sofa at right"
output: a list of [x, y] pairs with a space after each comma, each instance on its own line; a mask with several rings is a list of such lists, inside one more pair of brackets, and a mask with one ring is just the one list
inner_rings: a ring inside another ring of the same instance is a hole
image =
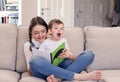
[[75, 74], [75, 80], [99, 80], [101, 79], [101, 71], [92, 71], [89, 73]]

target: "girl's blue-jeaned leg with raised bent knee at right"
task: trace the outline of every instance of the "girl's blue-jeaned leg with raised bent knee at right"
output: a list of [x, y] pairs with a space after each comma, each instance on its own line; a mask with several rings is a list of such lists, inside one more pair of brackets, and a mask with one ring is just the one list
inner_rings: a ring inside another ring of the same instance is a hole
[[69, 65], [66, 69], [72, 72], [82, 72], [86, 69], [94, 60], [94, 54], [92, 51], [86, 50], [81, 53], [77, 59]]

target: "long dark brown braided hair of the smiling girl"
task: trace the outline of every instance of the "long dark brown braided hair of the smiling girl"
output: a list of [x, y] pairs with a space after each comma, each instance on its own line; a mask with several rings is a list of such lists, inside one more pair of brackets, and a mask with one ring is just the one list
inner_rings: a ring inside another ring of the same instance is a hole
[[29, 42], [32, 44], [32, 30], [36, 25], [45, 26], [46, 32], [48, 32], [48, 25], [41, 17], [33, 17], [29, 25]]

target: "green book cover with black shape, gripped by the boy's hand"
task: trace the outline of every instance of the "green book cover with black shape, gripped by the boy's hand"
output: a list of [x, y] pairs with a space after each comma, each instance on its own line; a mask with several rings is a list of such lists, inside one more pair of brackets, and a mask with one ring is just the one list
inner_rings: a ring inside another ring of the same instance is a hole
[[64, 59], [60, 58], [60, 53], [62, 53], [62, 50], [65, 48], [65, 42], [63, 42], [61, 45], [59, 45], [52, 53], [52, 64], [55, 66], [58, 66]]

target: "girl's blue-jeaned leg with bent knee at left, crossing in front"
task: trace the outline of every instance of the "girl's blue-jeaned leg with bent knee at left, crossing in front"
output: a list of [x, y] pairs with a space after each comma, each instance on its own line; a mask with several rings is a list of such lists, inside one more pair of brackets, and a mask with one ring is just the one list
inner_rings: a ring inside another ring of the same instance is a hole
[[29, 64], [30, 68], [34, 69], [31, 69], [31, 72], [34, 73], [35, 71], [35, 73], [43, 74], [44, 76], [54, 75], [56, 78], [62, 78], [66, 80], [72, 80], [74, 76], [74, 72], [67, 71], [60, 67], [54, 66], [53, 64], [51, 64], [50, 62], [48, 62], [40, 56], [33, 56]]

